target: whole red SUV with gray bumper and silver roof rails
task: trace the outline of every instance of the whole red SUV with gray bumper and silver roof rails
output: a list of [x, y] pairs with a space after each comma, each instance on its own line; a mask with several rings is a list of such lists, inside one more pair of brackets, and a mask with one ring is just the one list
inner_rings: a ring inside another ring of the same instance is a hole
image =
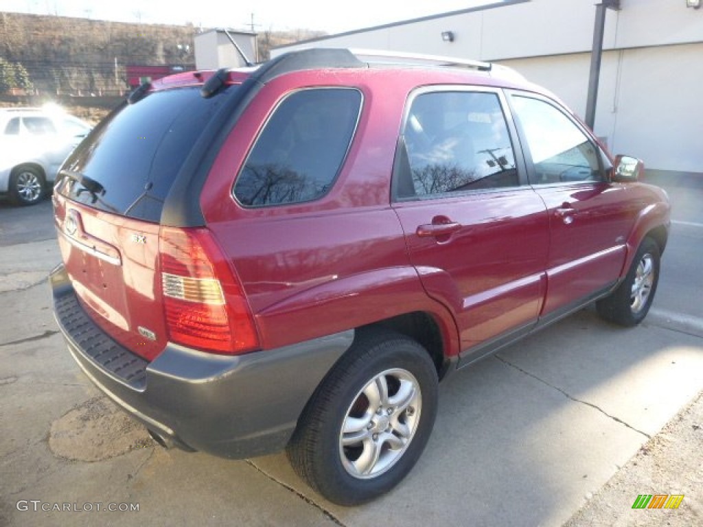
[[53, 193], [56, 318], [156, 441], [287, 448], [333, 502], [411, 470], [449, 372], [596, 301], [647, 314], [669, 202], [488, 63], [342, 49], [146, 84]]

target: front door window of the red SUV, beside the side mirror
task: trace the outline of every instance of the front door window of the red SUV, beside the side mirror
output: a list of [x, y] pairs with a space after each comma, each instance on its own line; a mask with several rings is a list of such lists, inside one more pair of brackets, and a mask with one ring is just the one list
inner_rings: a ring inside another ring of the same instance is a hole
[[514, 96], [512, 105], [534, 165], [531, 183], [602, 179], [598, 148], [571, 119], [540, 99]]

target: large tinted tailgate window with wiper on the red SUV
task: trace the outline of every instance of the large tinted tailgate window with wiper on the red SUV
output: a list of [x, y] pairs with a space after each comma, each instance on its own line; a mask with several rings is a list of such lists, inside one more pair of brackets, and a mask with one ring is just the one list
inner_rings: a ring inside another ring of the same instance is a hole
[[69, 157], [56, 192], [96, 209], [158, 222], [193, 144], [233, 89], [211, 98], [202, 98], [195, 86], [157, 91], [124, 105]]

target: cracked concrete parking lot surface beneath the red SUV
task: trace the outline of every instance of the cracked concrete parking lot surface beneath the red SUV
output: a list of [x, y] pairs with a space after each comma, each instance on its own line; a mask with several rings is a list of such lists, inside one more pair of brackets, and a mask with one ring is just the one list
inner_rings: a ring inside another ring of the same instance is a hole
[[[699, 523], [703, 190], [669, 193], [674, 222], [645, 322], [623, 329], [586, 309], [449, 377], [418, 465], [355, 508], [313, 493], [283, 454], [232, 461], [155, 446], [57, 332], [51, 203], [0, 203], [0, 525]], [[632, 509], [640, 494], [685, 497], [678, 509]]]

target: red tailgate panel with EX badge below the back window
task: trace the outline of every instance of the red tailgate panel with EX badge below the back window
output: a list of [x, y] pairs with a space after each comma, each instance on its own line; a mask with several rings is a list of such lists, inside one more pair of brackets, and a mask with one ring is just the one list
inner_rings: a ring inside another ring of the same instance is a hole
[[[168, 341], [160, 308], [160, 227], [100, 212], [58, 194], [54, 194], [53, 202], [61, 256], [84, 308], [117, 342], [152, 360]], [[67, 233], [69, 216], [79, 219], [78, 228], [86, 235], [83, 247], [72, 242], [75, 238]], [[93, 247], [105, 253], [111, 248], [117, 261], [101, 259]], [[145, 337], [140, 327], [154, 338]]]

